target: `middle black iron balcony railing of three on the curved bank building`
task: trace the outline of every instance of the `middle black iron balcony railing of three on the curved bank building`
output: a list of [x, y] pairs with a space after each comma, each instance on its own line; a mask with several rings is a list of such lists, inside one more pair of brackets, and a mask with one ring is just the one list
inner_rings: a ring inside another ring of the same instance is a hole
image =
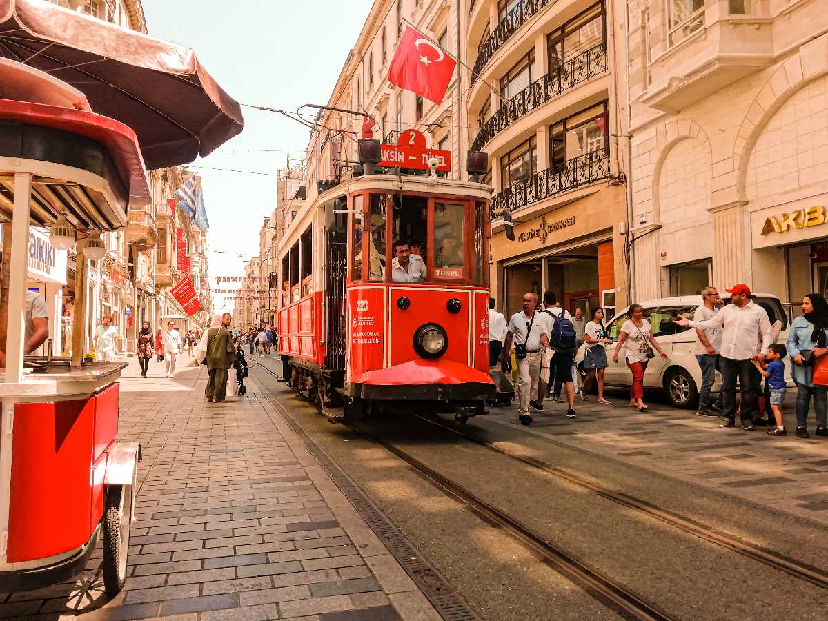
[[498, 108], [474, 138], [472, 151], [481, 151], [483, 147], [503, 129], [540, 108], [550, 99], [588, 79], [607, 70], [607, 44], [601, 43], [579, 55], [570, 58], [560, 69], [542, 75], [529, 84], [520, 93], [509, 99], [506, 105]]

